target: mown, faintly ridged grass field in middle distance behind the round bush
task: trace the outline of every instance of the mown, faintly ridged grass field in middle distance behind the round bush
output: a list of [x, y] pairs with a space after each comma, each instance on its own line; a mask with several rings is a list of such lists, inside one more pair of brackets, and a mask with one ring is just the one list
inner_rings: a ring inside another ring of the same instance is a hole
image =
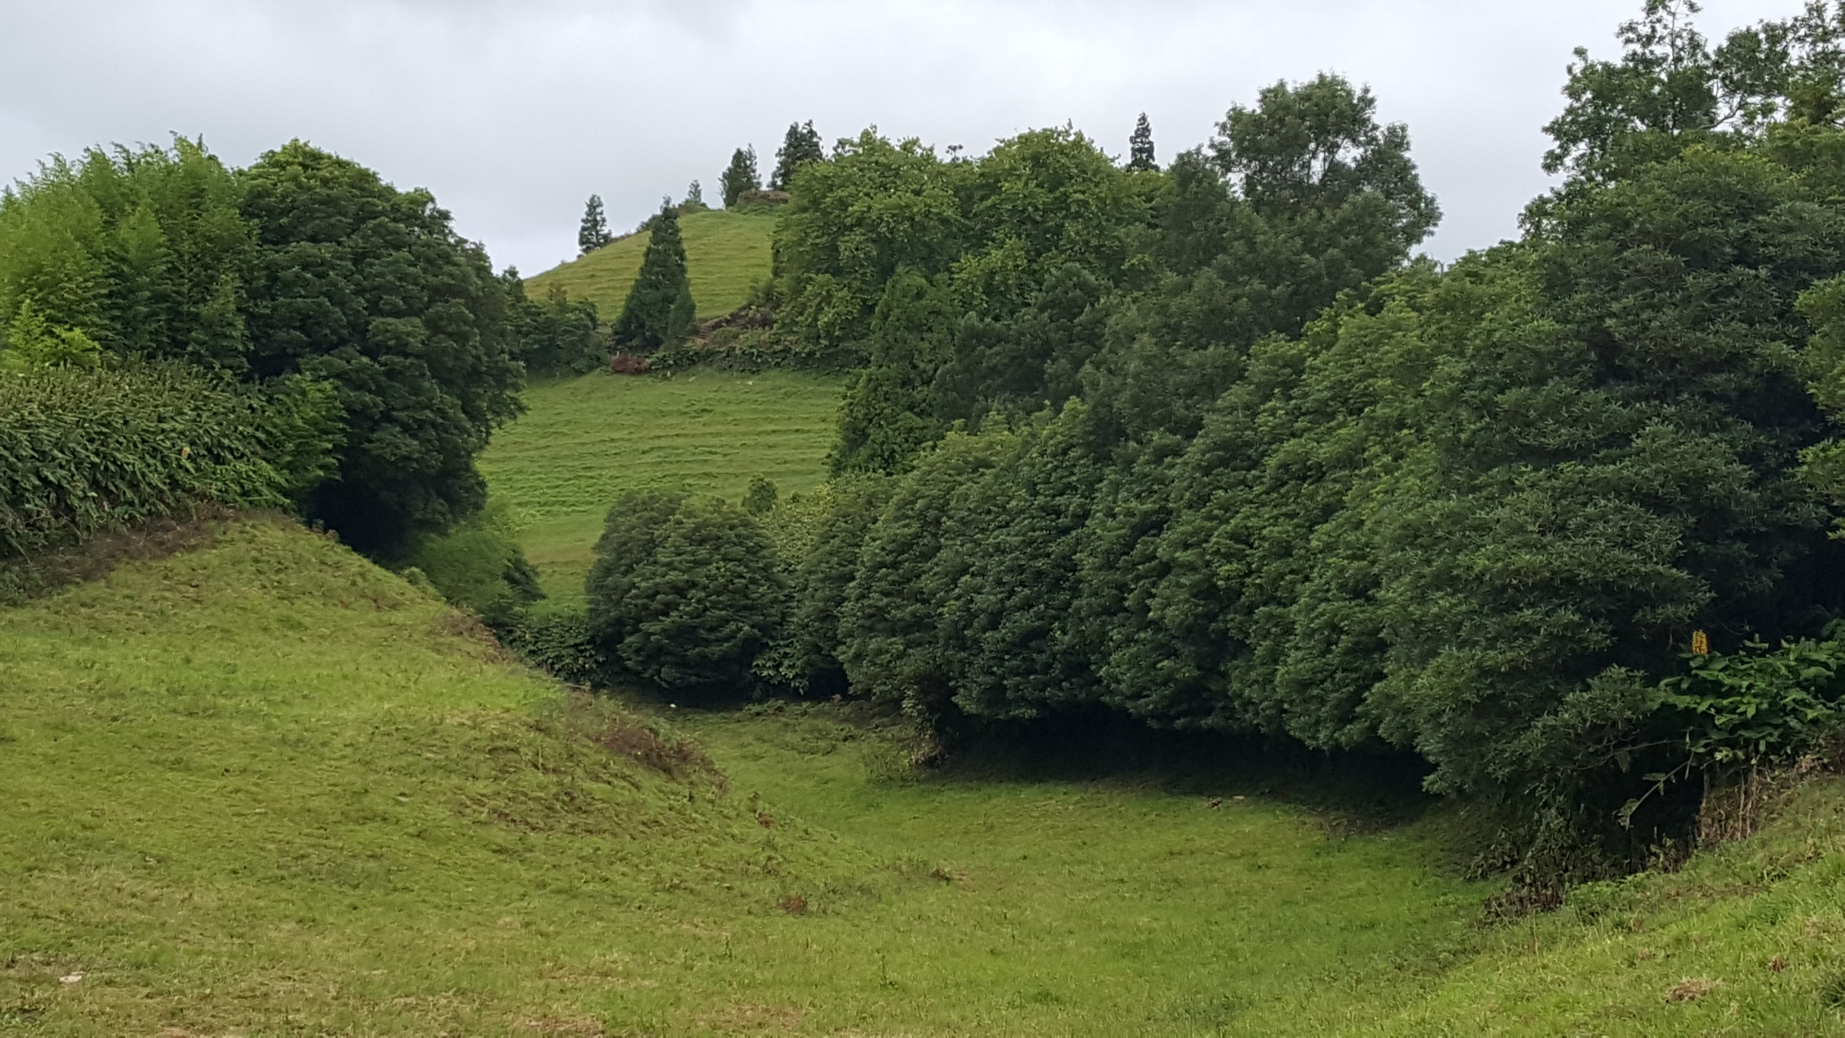
[[827, 478], [843, 380], [764, 371], [672, 379], [585, 375], [526, 390], [480, 469], [513, 506], [526, 556], [557, 600], [581, 600], [609, 506], [631, 489], [742, 499], [751, 477], [782, 495]]

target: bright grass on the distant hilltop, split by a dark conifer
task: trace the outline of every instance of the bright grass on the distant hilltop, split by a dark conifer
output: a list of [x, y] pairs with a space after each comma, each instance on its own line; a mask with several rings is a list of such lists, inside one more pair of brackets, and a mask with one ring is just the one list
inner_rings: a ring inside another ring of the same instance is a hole
[[[679, 220], [686, 244], [686, 270], [692, 275], [692, 301], [699, 318], [720, 318], [749, 299], [749, 288], [769, 275], [769, 235], [773, 212], [725, 212], [710, 209]], [[544, 296], [563, 284], [574, 299], [590, 299], [605, 321], [613, 321], [627, 301], [627, 290], [640, 273], [640, 255], [648, 235], [629, 235], [587, 257], [554, 266], [526, 279], [526, 294]]]

